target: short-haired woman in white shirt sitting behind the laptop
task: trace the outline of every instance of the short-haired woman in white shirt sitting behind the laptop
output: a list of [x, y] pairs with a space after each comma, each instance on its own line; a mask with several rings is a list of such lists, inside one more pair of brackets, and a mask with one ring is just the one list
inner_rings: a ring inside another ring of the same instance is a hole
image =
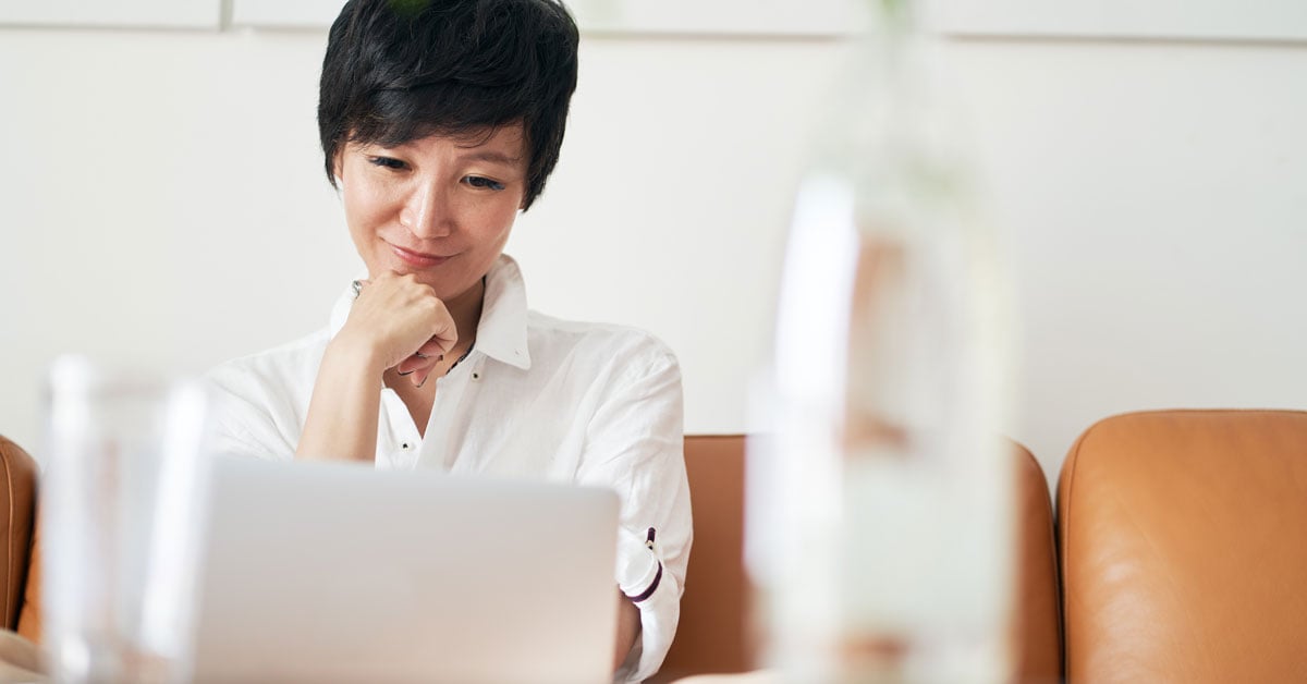
[[331, 29], [319, 129], [367, 265], [327, 328], [230, 361], [221, 449], [613, 488], [618, 680], [654, 674], [690, 547], [674, 356], [527, 310], [503, 255], [576, 85], [553, 0], [354, 0]]

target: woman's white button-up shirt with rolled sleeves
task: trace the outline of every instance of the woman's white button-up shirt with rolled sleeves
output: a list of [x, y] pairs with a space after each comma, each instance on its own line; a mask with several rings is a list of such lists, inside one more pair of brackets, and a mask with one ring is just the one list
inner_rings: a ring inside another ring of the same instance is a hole
[[[294, 458], [327, 343], [352, 305], [346, 288], [327, 328], [209, 373], [218, 450]], [[518, 264], [501, 256], [486, 275], [472, 352], [433, 382], [425, 439], [400, 396], [382, 390], [376, 467], [616, 490], [617, 585], [640, 609], [640, 638], [616, 680], [652, 675], [676, 633], [691, 538], [681, 371], [672, 352], [638, 330], [529, 311]]]

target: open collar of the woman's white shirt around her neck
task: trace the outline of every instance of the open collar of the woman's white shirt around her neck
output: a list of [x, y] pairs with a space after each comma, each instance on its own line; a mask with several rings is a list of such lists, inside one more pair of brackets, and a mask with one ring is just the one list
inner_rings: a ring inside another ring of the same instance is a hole
[[[332, 337], [345, 327], [353, 305], [354, 289], [346, 285], [332, 307]], [[531, 368], [531, 351], [527, 347], [527, 285], [518, 262], [507, 254], [501, 254], [486, 273], [481, 322], [477, 323], [477, 341], [472, 351], [523, 370]]]

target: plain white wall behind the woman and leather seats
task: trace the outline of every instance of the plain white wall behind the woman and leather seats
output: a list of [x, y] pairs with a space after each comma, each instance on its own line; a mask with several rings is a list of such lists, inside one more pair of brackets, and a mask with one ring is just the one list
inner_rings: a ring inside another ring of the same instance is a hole
[[[357, 269], [320, 171], [322, 33], [0, 30], [0, 433], [46, 364], [176, 371], [324, 323]], [[1052, 475], [1151, 407], [1307, 408], [1307, 47], [953, 42]], [[830, 42], [587, 39], [508, 251], [537, 309], [655, 331], [690, 432], [745, 426]]]

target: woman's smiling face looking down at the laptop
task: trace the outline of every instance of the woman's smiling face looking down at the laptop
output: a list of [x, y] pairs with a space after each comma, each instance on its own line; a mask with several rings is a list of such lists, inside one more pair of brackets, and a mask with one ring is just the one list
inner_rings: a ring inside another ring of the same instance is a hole
[[503, 251], [527, 191], [521, 124], [395, 148], [345, 145], [336, 173], [345, 221], [372, 276], [413, 273], [446, 302]]

